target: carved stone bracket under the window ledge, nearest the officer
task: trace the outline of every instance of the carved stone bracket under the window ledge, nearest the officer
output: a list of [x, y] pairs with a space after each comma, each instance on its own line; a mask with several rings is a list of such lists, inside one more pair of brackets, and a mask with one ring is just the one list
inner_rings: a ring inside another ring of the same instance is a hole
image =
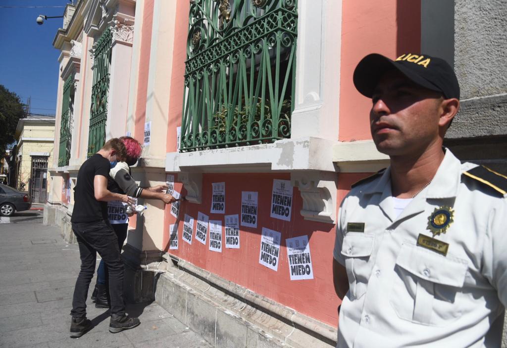
[[327, 224], [336, 223], [335, 172], [309, 170], [291, 173], [291, 183], [303, 198], [301, 215], [305, 220]]

